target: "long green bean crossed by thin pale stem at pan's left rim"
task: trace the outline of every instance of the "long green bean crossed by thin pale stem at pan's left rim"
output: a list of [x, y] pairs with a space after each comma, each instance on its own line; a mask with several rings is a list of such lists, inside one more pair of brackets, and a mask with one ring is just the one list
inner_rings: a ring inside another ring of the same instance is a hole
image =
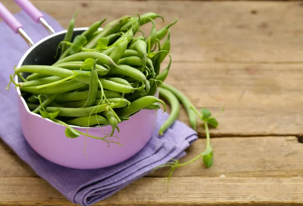
[[24, 91], [24, 92], [30, 92], [33, 94], [49, 95], [49, 94], [64, 93], [64, 92], [72, 91], [74, 89], [78, 89], [78, 88], [84, 86], [85, 84], [86, 83], [83, 83], [83, 82], [70, 80], [70, 81], [60, 83], [58, 85], [44, 87], [41, 89], [37, 89], [36, 86], [29, 86], [29, 87], [21, 87], [20, 90]]

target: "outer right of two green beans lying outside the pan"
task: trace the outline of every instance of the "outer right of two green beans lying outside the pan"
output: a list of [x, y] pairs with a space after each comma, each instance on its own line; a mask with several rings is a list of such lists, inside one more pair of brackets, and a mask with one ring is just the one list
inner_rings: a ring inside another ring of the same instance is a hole
[[164, 84], [161, 86], [169, 91], [171, 91], [181, 102], [181, 104], [184, 106], [187, 115], [188, 115], [188, 120], [190, 123], [190, 126], [192, 129], [196, 130], [196, 125], [197, 125], [197, 116], [195, 114], [195, 112], [191, 109], [191, 102], [190, 100], [178, 89], [176, 89], [175, 87], [168, 85], [168, 84]]

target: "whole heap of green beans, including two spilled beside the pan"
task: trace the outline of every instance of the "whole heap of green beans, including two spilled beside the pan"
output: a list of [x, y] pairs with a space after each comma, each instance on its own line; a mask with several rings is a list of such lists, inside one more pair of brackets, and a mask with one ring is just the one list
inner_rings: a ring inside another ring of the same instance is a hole
[[[30, 111], [65, 125], [68, 137], [80, 135], [70, 125], [111, 125], [109, 136], [112, 136], [115, 129], [119, 131], [120, 122], [140, 110], [158, 110], [161, 103], [165, 111], [165, 102], [155, 96], [159, 91], [171, 106], [170, 116], [159, 134], [177, 119], [179, 102], [195, 129], [197, 120], [191, 102], [179, 90], [164, 84], [172, 63], [170, 27], [177, 19], [156, 30], [154, 19], [161, 18], [164, 22], [164, 18], [148, 12], [121, 17], [100, 30], [105, 19], [94, 22], [72, 39], [75, 18], [76, 14], [58, 45], [55, 64], [21, 66], [11, 75], [11, 82], [19, 86]], [[151, 30], [144, 36], [140, 26], [147, 23]], [[169, 64], [160, 72], [166, 57]], [[30, 75], [24, 78], [22, 73]], [[14, 82], [15, 75], [23, 81]]]

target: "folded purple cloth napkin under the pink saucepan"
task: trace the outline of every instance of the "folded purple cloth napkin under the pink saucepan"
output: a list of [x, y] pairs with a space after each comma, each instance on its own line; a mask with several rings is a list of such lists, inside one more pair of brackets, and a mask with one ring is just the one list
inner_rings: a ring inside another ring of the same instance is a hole
[[[16, 18], [34, 42], [47, 36], [47, 31], [33, 22], [23, 11]], [[50, 16], [45, 19], [56, 31], [63, 28]], [[132, 158], [103, 169], [77, 170], [59, 166], [39, 156], [25, 141], [18, 116], [17, 93], [12, 86], [6, 90], [9, 75], [28, 49], [26, 42], [5, 23], [0, 23], [0, 137], [40, 177], [59, 190], [70, 201], [81, 205], [96, 203], [150, 173], [155, 167], [185, 155], [184, 149], [197, 139], [196, 132], [176, 121], [164, 136], [157, 131], [168, 118], [158, 112], [155, 132], [147, 145]]]

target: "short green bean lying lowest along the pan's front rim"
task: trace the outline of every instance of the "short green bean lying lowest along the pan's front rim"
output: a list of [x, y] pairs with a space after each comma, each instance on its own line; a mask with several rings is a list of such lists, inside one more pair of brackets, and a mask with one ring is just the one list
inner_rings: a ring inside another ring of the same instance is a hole
[[71, 120], [65, 121], [68, 125], [74, 125], [74, 126], [81, 126], [81, 127], [87, 127], [87, 126], [93, 126], [93, 125], [109, 125], [109, 121], [100, 115], [91, 115], [91, 116], [84, 116], [84, 117], [78, 117]]

